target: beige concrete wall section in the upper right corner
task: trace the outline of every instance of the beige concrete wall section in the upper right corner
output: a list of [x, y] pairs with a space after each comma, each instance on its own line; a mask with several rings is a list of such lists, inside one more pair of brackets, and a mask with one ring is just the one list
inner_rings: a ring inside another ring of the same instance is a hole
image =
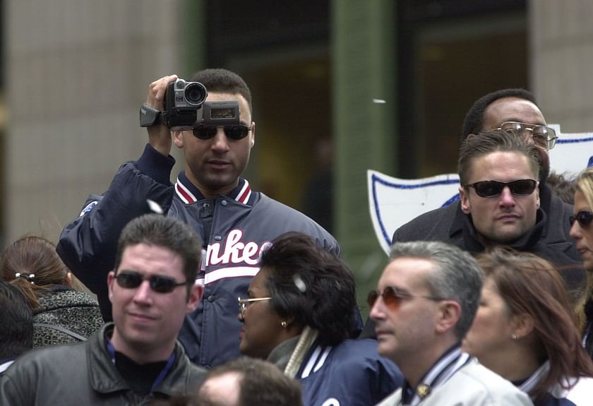
[[532, 0], [528, 14], [532, 88], [546, 120], [593, 131], [593, 2]]

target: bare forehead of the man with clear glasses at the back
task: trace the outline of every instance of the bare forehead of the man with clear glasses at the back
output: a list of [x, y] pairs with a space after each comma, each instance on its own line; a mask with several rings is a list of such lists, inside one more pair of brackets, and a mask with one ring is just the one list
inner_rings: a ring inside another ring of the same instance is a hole
[[519, 97], [503, 97], [486, 107], [481, 129], [496, 129], [506, 121], [546, 125], [544, 114], [534, 103]]

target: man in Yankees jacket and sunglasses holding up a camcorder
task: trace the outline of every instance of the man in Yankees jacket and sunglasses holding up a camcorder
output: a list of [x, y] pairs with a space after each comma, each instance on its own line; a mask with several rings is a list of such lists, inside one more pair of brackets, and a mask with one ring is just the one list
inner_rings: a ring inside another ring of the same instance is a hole
[[[164, 76], [151, 83], [140, 108], [148, 144], [122, 165], [102, 196], [91, 195], [80, 217], [64, 228], [58, 253], [111, 314], [104, 280], [115, 263], [116, 239], [126, 223], [150, 213], [152, 202], [181, 218], [204, 241], [198, 280], [204, 296], [179, 333], [188, 357], [214, 366], [239, 356], [236, 298], [246, 297], [260, 251], [288, 231], [314, 237], [329, 251], [337, 241], [302, 213], [251, 190], [241, 177], [255, 144], [251, 92], [236, 73], [206, 69], [191, 78]], [[185, 168], [169, 179], [172, 143]], [[152, 202], [151, 202], [152, 201]]]

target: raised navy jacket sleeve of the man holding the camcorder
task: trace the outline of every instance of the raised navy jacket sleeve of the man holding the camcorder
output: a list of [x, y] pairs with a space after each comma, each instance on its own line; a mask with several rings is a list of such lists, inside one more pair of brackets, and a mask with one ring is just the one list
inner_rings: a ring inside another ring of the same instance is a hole
[[90, 196], [80, 216], [61, 232], [56, 251], [68, 268], [97, 294], [101, 312], [111, 319], [107, 273], [114, 268], [117, 239], [133, 218], [151, 213], [147, 199], [167, 213], [173, 199], [169, 181], [175, 161], [150, 145], [136, 162], [127, 162], [116, 173], [103, 196]]

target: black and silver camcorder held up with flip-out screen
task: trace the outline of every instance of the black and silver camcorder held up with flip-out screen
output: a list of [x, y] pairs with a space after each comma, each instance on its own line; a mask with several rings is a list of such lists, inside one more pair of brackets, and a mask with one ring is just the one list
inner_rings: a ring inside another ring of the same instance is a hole
[[198, 124], [225, 126], [240, 124], [239, 102], [206, 102], [208, 90], [200, 82], [177, 79], [169, 83], [164, 94], [164, 111], [143, 103], [140, 107], [140, 126], [162, 123], [173, 131], [192, 129]]

